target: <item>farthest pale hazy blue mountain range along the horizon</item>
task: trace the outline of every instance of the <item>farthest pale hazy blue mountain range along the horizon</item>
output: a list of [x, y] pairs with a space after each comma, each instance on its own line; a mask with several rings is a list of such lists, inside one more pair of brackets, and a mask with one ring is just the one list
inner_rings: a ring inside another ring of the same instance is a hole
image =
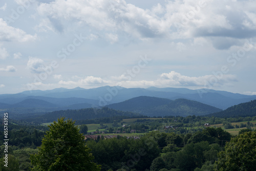
[[75, 89], [58, 88], [46, 91], [32, 90], [17, 94], [2, 94], [0, 95], [0, 102], [15, 104], [25, 99], [33, 98], [45, 100], [49, 103], [66, 108], [67, 106], [75, 104], [78, 104], [77, 106], [79, 106], [79, 103], [88, 103], [93, 106], [104, 106], [139, 96], [150, 96], [171, 100], [184, 98], [212, 105], [223, 110], [227, 109], [229, 106], [256, 99], [256, 95], [249, 96], [207, 89], [190, 90], [185, 88], [155, 87], [147, 89], [127, 89], [122, 87], [104, 86], [95, 89], [83, 89], [79, 87]]

